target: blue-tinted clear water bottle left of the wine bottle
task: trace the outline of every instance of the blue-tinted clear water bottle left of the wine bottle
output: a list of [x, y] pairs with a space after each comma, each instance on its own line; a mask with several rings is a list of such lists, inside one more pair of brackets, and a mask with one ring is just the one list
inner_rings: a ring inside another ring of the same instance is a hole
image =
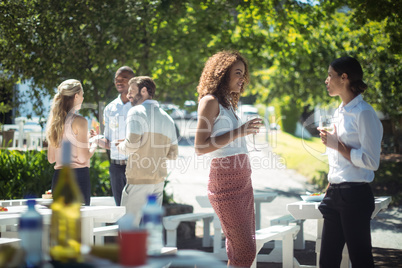
[[25, 251], [25, 267], [40, 267], [42, 262], [42, 215], [35, 209], [36, 201], [28, 200], [28, 210], [20, 217], [19, 236]]

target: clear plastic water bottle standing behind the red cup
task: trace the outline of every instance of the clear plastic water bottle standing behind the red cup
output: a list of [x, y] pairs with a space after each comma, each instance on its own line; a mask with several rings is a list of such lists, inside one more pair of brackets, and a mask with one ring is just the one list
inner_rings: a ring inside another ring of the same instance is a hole
[[156, 202], [155, 195], [148, 196], [142, 209], [142, 224], [148, 232], [147, 254], [160, 255], [163, 247], [163, 208]]

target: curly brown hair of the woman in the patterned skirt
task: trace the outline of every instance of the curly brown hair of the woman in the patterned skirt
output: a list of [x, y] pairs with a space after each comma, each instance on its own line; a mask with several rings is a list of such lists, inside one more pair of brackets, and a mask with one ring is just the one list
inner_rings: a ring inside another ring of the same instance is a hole
[[[244, 63], [244, 83], [240, 93], [234, 93], [230, 92], [229, 89], [230, 70], [238, 61]], [[233, 106], [236, 109], [240, 95], [244, 92], [248, 82], [249, 71], [246, 59], [238, 51], [220, 51], [211, 56], [205, 63], [197, 86], [198, 101], [211, 94], [218, 98], [218, 102], [223, 107], [229, 108], [229, 106]]]

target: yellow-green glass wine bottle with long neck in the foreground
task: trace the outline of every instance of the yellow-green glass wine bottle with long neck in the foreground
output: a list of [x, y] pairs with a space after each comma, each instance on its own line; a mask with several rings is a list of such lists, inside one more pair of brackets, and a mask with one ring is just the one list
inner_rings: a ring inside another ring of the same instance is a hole
[[62, 143], [62, 169], [53, 192], [50, 226], [50, 257], [60, 262], [81, 262], [81, 204], [71, 164], [71, 143]]

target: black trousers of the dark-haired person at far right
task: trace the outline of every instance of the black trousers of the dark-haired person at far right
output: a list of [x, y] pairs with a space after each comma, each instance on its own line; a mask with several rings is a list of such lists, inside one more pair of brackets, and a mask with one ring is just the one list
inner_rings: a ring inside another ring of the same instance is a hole
[[368, 183], [330, 186], [319, 206], [324, 217], [320, 268], [339, 268], [346, 245], [353, 268], [374, 267], [370, 220], [374, 196]]

